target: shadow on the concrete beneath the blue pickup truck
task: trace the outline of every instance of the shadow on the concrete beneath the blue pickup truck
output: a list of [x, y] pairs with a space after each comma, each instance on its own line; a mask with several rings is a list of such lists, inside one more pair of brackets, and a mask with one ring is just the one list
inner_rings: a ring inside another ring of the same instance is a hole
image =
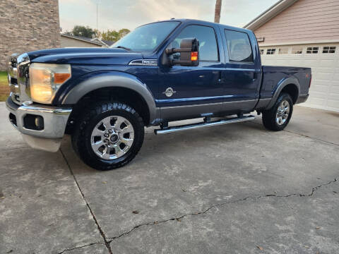
[[[234, 145], [244, 146], [253, 136], [269, 135], [268, 133], [270, 133], [260, 124], [249, 122], [212, 126], [165, 135], [155, 135], [153, 129], [145, 128], [143, 147], [141, 147], [136, 158], [125, 167], [112, 171], [138, 170], [141, 167], [161, 163], [162, 157], [182, 157], [182, 155], [187, 160], [196, 156], [206, 157], [206, 163], [208, 163], [208, 160], [212, 160], [215, 154], [232, 150]], [[60, 149], [75, 174], [98, 174], [102, 172], [81, 162], [76, 152], [73, 151], [69, 135], [65, 136]]]

